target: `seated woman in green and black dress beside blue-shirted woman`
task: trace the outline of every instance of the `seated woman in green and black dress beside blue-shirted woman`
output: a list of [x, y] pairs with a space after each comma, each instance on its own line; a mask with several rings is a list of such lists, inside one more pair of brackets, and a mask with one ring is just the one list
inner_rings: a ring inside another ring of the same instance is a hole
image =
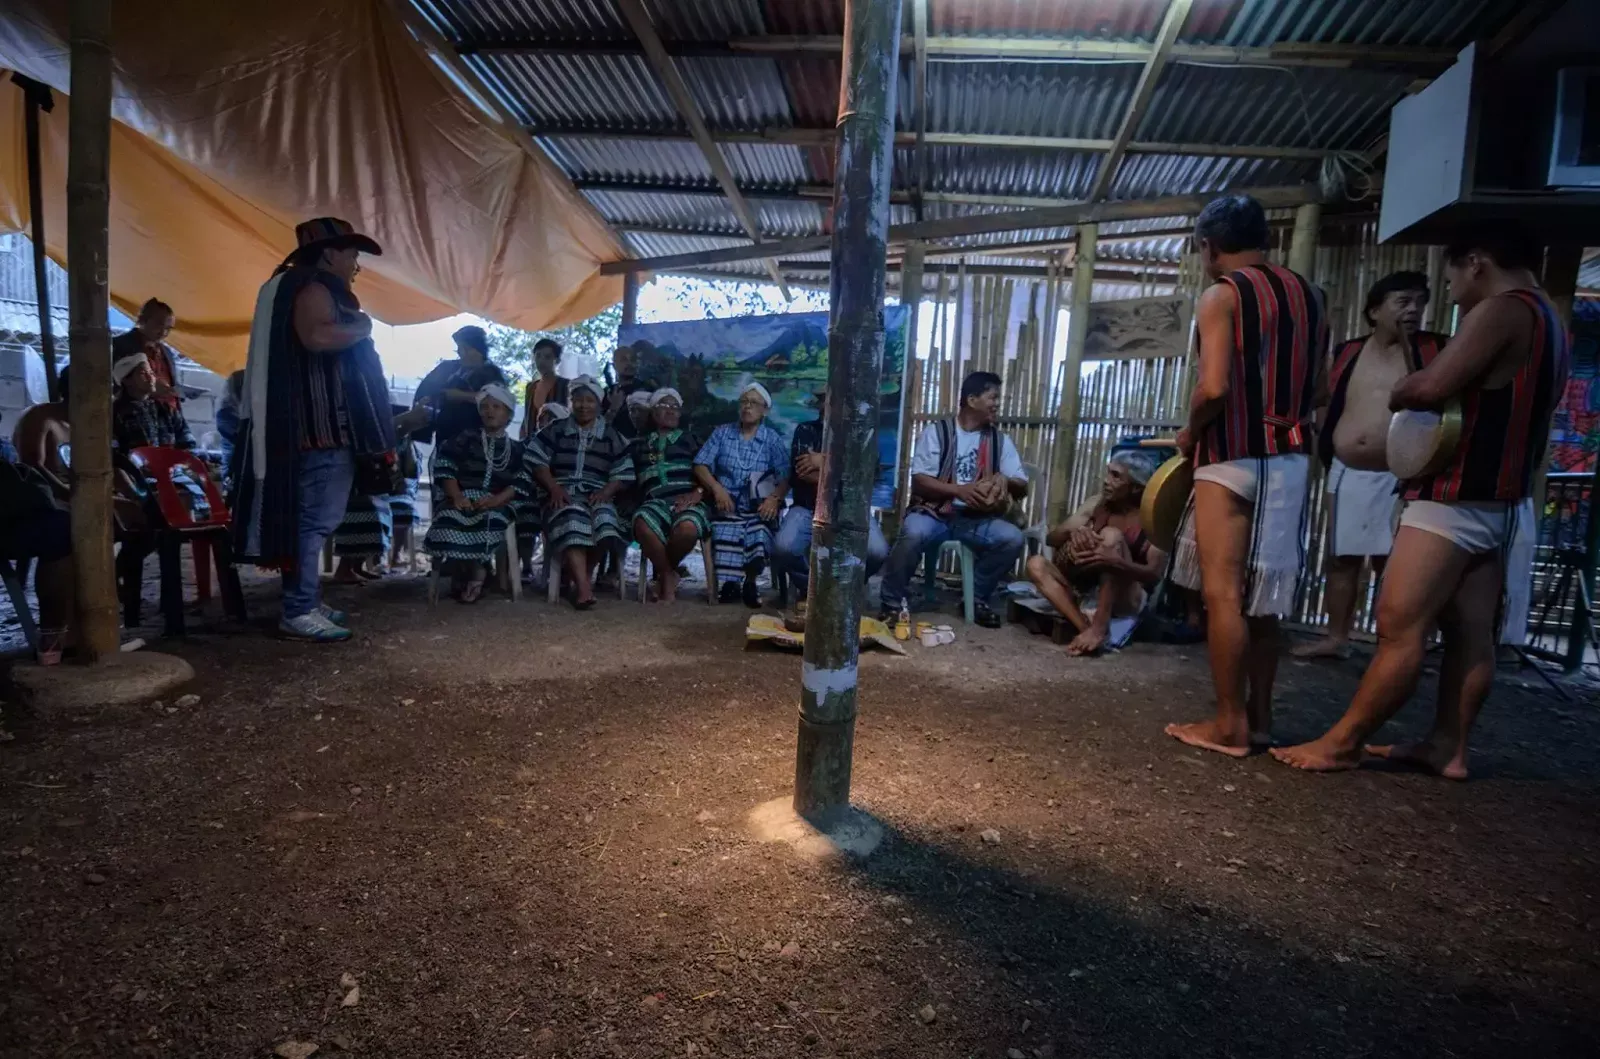
[[683, 398], [672, 387], [650, 395], [650, 427], [634, 440], [634, 470], [643, 501], [634, 514], [634, 539], [656, 571], [656, 598], [678, 595], [678, 563], [710, 533], [706, 491], [694, 482], [699, 442], [678, 426]]

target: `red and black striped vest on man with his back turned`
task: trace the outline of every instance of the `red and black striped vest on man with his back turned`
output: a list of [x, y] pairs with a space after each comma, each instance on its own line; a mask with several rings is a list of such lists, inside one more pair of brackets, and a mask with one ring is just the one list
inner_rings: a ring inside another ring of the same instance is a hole
[[1309, 453], [1317, 371], [1328, 354], [1322, 291], [1274, 264], [1218, 282], [1234, 290], [1234, 363], [1222, 413], [1195, 440], [1195, 466]]

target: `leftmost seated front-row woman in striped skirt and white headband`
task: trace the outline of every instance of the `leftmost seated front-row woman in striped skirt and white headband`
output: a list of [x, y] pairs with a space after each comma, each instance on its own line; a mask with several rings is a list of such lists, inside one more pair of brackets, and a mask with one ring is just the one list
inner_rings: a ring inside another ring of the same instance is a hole
[[442, 440], [434, 454], [434, 525], [424, 547], [450, 571], [450, 589], [462, 603], [477, 603], [494, 553], [506, 542], [518, 478], [522, 443], [506, 434], [517, 398], [491, 382], [478, 390], [477, 430]]

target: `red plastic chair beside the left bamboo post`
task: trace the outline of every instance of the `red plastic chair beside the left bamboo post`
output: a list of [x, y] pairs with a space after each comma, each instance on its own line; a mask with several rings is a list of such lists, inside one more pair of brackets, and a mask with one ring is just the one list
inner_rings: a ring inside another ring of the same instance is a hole
[[[184, 633], [184, 582], [182, 545], [190, 544], [195, 563], [195, 587], [200, 601], [211, 598], [211, 563], [216, 563], [218, 582], [222, 589], [222, 608], [229, 616], [245, 621], [245, 593], [234, 568], [234, 552], [229, 542], [232, 520], [222, 491], [211, 474], [194, 453], [181, 448], [146, 446], [128, 453], [130, 462], [152, 490], [152, 504], [160, 525], [155, 530], [162, 565], [162, 614], [166, 617], [166, 635]], [[130, 589], [130, 595], [131, 595]], [[138, 600], [125, 603], [138, 622]]]

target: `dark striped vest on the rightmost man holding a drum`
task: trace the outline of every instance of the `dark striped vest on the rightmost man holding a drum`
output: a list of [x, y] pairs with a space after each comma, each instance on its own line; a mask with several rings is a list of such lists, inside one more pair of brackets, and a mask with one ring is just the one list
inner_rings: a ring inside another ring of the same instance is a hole
[[1450, 466], [1411, 478], [1408, 501], [1515, 502], [1533, 494], [1533, 474], [1550, 442], [1550, 418], [1566, 389], [1571, 346], [1555, 306], [1542, 291], [1515, 290], [1533, 312], [1528, 362], [1506, 386], [1461, 394], [1461, 442]]

